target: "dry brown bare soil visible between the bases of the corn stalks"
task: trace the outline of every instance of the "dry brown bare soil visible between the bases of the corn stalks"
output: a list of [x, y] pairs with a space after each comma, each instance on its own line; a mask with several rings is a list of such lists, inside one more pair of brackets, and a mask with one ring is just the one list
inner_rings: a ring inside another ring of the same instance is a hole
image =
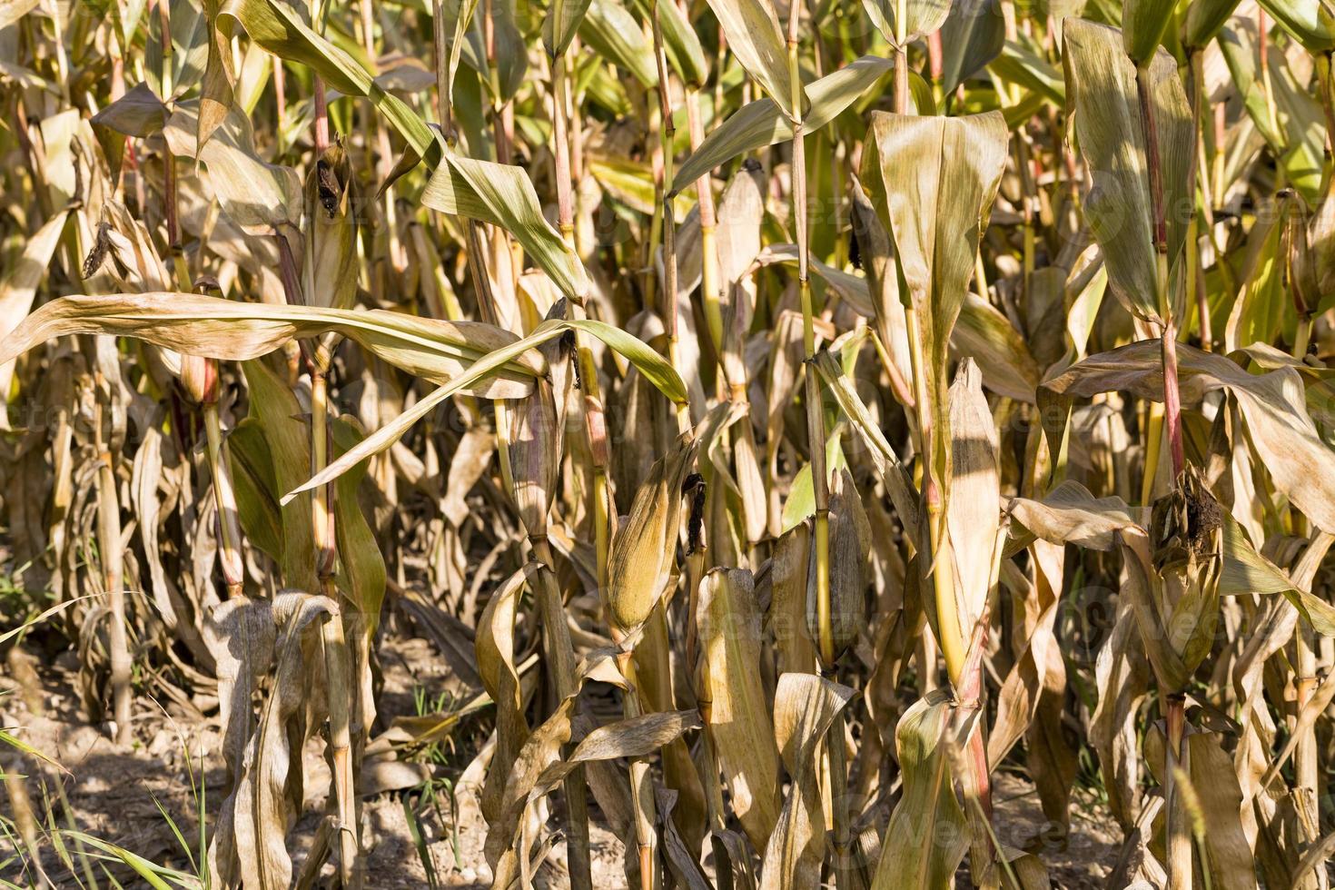
[[[427, 640], [394, 632], [384, 638], [380, 651], [384, 669], [380, 711], [387, 718], [414, 715], [419, 697], [434, 701], [458, 686], [457, 678], [445, 667], [446, 660]], [[19, 735], [24, 741], [53, 755], [71, 771], [64, 790], [80, 830], [113, 841], [154, 862], [188, 870], [186, 854], [158, 805], [171, 814], [187, 841], [194, 843], [199, 803], [191, 790], [186, 751], [190, 751], [196, 779], [203, 777], [206, 803], [212, 809], [212, 803], [223, 795], [216, 723], [202, 721], [198, 715], [187, 717], [180, 707], [163, 709], [140, 698], [135, 743], [117, 749], [103, 729], [88, 725], [81, 714], [72, 673], [64, 666], [67, 662], [72, 663], [72, 659], [57, 658], [53, 664], [35, 664], [29, 678], [36, 678], [40, 685], [39, 695], [33, 695], [33, 679], [24, 685], [21, 678], [15, 677], [24, 671], [11, 669], [0, 675], [0, 689], [11, 693], [0, 697], [0, 725], [23, 727]], [[429, 809], [419, 819], [439, 886], [486, 887], [490, 882], [490, 870], [482, 854], [486, 825], [477, 806], [477, 790], [469, 786], [466, 775], [459, 775], [471, 755], [471, 751], [445, 750], [446, 763], [437, 761], [414, 767], [415, 771], [386, 770], [390, 785], [407, 783], [418, 774], [443, 775], [458, 782], [457, 813], [450, 811], [449, 794], [441, 794], [437, 798], [439, 809]], [[324, 803], [327, 769], [319, 739], [307, 745], [304, 766], [307, 814], [288, 838], [296, 867], [300, 867]], [[49, 778], [39, 781], [28, 765], [24, 771], [31, 775], [28, 787], [35, 805], [40, 809], [44, 799], [49, 801], [59, 814], [60, 803]], [[364, 803], [363, 826], [370, 846], [368, 886], [376, 890], [430, 886], [405, 813], [403, 794], [402, 790], [379, 793]], [[410, 789], [409, 795], [419, 801], [414, 797], [415, 790]], [[995, 799], [997, 831], [1003, 842], [1019, 846], [1039, 835], [1044, 817], [1025, 779], [1011, 773], [999, 774]], [[8, 798], [4, 806], [11, 806]], [[64, 821], [63, 815], [59, 818]], [[1053, 886], [1071, 890], [1101, 887], [1103, 875], [1116, 859], [1116, 827], [1109, 823], [1107, 813], [1097, 803], [1079, 801], [1077, 793], [1067, 847], [1043, 853]], [[622, 842], [603, 826], [594, 825], [593, 847], [595, 886], [609, 890], [623, 887]], [[0, 861], [9, 853], [5, 843]], [[563, 849], [558, 846], [551, 859], [561, 858]], [[57, 883], [64, 881], [71, 887], [76, 886], [53, 859], [48, 867]], [[124, 870], [112, 869], [112, 873], [125, 887], [143, 886]], [[16, 867], [0, 869], [0, 877], [23, 883]], [[539, 875], [541, 886], [563, 886], [562, 877], [555, 867], [545, 870]], [[961, 886], [971, 885], [961, 879]]]

